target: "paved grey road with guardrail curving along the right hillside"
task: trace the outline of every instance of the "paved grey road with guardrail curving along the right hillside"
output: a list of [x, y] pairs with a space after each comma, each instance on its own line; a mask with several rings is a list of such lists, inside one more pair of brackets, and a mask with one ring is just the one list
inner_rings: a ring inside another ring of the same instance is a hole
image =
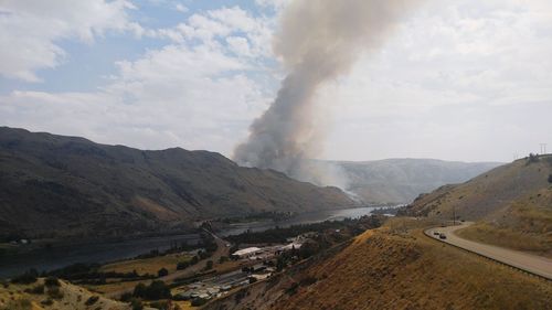
[[[445, 242], [470, 252], [475, 252], [482, 256], [499, 260], [507, 265], [517, 267], [519, 269], [529, 271], [534, 275], [542, 276], [544, 278], [552, 280], [552, 259], [531, 255], [528, 253], [508, 249], [503, 247], [480, 244], [473, 240], [467, 240], [457, 236], [454, 232], [465, 228], [473, 223], [463, 223], [461, 225], [447, 226], [447, 227], [435, 227], [426, 229], [424, 233], [437, 240]], [[443, 233], [446, 239], [440, 239], [439, 236], [434, 235], [435, 232]]]

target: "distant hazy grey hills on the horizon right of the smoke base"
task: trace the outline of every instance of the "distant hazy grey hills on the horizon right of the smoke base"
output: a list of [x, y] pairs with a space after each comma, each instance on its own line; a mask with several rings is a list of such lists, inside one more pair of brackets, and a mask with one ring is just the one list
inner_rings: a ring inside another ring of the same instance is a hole
[[363, 162], [314, 161], [311, 164], [329, 171], [327, 174], [336, 179], [336, 184], [357, 194], [365, 203], [402, 204], [442, 185], [466, 182], [501, 163], [385, 159]]

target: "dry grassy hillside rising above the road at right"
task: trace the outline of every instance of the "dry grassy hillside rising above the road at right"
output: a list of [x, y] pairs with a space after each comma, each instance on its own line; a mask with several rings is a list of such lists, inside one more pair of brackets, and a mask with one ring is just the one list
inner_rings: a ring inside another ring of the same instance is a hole
[[459, 185], [423, 195], [410, 215], [477, 223], [466, 238], [552, 257], [552, 156], [521, 159]]

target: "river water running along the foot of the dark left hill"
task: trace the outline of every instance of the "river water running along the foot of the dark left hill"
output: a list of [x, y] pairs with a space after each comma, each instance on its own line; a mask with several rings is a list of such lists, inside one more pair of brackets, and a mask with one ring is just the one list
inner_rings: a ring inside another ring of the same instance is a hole
[[[266, 221], [254, 223], [241, 223], [232, 225], [217, 235], [229, 236], [243, 233], [247, 229], [262, 232], [276, 226], [286, 227], [297, 224], [323, 222], [327, 220], [342, 221], [347, 217], [357, 218], [370, 214], [376, 207], [355, 207], [332, 211], [319, 211], [304, 213], [285, 221]], [[131, 258], [152, 249], [166, 250], [171, 243], [187, 242], [193, 244], [199, 240], [198, 234], [172, 235], [161, 237], [144, 237], [124, 242], [104, 242], [96, 244], [76, 244], [66, 246], [54, 246], [52, 248], [36, 248], [24, 254], [0, 256], [0, 278], [11, 277], [24, 272], [29, 268], [39, 271], [52, 270], [75, 263], [106, 263]]]

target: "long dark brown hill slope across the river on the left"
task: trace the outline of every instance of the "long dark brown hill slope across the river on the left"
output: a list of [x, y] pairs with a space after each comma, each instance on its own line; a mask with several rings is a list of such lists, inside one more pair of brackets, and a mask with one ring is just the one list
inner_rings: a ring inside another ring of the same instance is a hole
[[259, 211], [350, 206], [337, 188], [219, 153], [142, 151], [0, 128], [0, 236], [123, 235]]

